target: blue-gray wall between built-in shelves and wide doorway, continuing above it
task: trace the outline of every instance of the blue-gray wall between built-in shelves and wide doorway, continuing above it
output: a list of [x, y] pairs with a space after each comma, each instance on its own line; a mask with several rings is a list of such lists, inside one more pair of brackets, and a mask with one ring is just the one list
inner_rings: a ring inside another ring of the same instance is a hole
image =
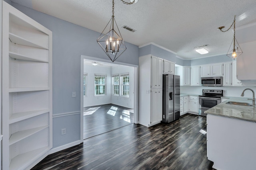
[[[80, 61], [81, 55], [108, 59], [96, 39], [100, 33], [12, 3], [12, 6], [44, 25], [53, 35], [53, 146], [80, 140]], [[102, 28], [104, 29], [104, 28]], [[138, 46], [126, 43], [127, 50], [116, 60], [138, 65]], [[76, 98], [71, 98], [76, 92]], [[67, 116], [55, 116], [55, 115]], [[66, 135], [60, 136], [62, 128]]]

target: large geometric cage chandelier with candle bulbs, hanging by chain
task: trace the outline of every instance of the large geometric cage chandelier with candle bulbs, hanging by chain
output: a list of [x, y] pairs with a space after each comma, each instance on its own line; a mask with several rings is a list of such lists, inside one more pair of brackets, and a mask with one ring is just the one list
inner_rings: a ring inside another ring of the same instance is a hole
[[[127, 5], [135, 3], [135, 0], [132, 2], [125, 2], [124, 0], [121, 1]], [[108, 28], [110, 29], [108, 30]], [[114, 62], [126, 50], [124, 40], [121, 36], [114, 17], [114, 0], [112, 0], [112, 17], [98, 37], [97, 43], [104, 50], [106, 55], [108, 55], [112, 62]]]

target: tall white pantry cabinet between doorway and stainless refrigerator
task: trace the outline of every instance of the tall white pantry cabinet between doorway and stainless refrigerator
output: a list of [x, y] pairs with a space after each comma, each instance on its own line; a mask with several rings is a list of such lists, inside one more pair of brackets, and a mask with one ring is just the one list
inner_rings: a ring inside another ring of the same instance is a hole
[[163, 59], [139, 57], [139, 123], [150, 127], [162, 121]]

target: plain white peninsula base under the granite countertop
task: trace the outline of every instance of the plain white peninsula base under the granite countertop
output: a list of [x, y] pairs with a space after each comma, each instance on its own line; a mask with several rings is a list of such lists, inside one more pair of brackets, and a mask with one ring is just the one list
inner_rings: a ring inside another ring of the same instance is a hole
[[[224, 113], [223, 110], [222, 113]], [[228, 110], [225, 111], [225, 115], [228, 115]], [[207, 157], [208, 160], [214, 162], [212, 168], [254, 170], [256, 124], [251, 121], [212, 114], [208, 114], [206, 120]]]

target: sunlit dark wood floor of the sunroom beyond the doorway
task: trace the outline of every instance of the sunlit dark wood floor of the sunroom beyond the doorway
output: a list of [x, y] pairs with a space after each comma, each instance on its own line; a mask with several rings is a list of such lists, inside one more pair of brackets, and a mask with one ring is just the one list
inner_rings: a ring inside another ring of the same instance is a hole
[[84, 107], [84, 139], [134, 123], [133, 109], [105, 104]]

